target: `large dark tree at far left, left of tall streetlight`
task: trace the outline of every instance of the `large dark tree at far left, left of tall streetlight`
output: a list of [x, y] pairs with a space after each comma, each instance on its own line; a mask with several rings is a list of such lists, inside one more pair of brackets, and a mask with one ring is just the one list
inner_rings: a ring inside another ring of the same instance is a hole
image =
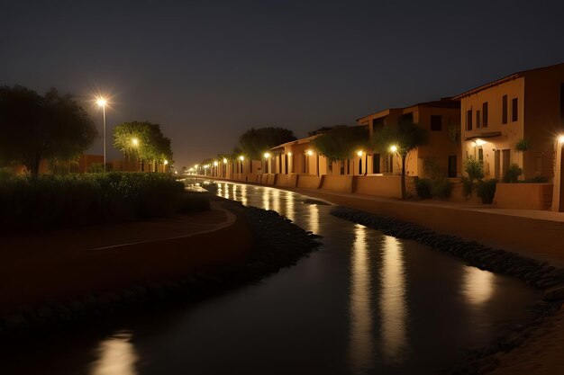
[[71, 94], [51, 88], [41, 96], [23, 86], [0, 87], [0, 159], [21, 163], [33, 176], [42, 159], [70, 160], [97, 136], [88, 113]]

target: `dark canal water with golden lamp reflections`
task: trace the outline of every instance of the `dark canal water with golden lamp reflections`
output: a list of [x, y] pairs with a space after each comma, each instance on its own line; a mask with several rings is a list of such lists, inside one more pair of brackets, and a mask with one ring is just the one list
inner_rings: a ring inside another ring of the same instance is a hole
[[337, 219], [303, 195], [217, 186], [323, 246], [257, 285], [14, 344], [0, 373], [432, 374], [525, 322], [539, 298], [521, 281]]

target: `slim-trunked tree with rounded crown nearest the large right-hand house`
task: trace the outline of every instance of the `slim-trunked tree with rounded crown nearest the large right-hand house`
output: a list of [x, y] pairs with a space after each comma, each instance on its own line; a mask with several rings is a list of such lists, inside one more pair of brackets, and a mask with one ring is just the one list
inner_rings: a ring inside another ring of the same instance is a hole
[[[372, 147], [386, 152], [392, 150], [400, 157], [402, 163], [402, 199], [405, 193], [405, 160], [407, 154], [427, 143], [427, 130], [411, 121], [400, 121], [396, 125], [385, 126], [374, 133], [370, 139]], [[394, 147], [394, 148], [392, 148]]]

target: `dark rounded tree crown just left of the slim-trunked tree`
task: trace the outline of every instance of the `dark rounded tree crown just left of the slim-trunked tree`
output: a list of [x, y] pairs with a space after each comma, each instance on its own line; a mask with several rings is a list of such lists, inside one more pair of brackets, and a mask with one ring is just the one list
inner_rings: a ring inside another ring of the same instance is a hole
[[314, 138], [312, 144], [330, 163], [344, 161], [359, 148], [367, 147], [368, 129], [360, 126], [334, 128]]

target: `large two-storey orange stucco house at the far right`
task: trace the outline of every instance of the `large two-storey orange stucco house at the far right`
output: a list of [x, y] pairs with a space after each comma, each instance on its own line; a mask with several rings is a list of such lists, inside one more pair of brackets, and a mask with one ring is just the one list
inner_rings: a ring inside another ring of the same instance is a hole
[[487, 178], [501, 180], [516, 164], [522, 178], [552, 179], [564, 125], [564, 63], [514, 73], [453, 99], [460, 102], [462, 156], [483, 161]]

